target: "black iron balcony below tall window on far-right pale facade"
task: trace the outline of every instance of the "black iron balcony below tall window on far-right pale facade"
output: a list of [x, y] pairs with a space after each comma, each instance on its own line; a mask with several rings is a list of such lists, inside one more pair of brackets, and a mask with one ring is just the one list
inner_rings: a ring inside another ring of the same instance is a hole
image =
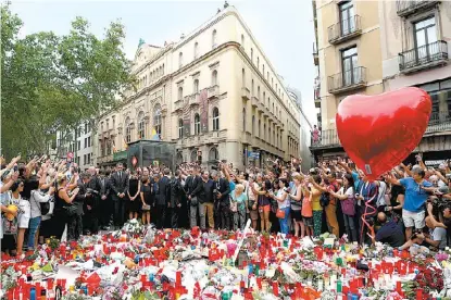
[[403, 74], [448, 63], [448, 43], [444, 40], [427, 43], [398, 54], [399, 71]]

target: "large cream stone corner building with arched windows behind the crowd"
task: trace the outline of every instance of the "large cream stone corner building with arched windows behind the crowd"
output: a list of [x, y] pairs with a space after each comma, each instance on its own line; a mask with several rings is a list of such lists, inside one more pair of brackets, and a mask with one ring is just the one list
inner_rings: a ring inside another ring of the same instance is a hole
[[133, 73], [137, 91], [100, 118], [98, 164], [154, 133], [176, 142], [177, 163], [299, 157], [300, 110], [235, 8], [178, 42], [140, 45]]

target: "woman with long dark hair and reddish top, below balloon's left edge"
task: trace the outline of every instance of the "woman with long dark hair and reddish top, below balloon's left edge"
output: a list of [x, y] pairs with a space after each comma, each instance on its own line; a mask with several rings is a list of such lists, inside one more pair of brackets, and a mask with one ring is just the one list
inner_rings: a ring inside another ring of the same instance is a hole
[[338, 192], [328, 189], [331, 196], [340, 200], [343, 213], [344, 228], [350, 241], [358, 241], [358, 230], [354, 224], [355, 215], [355, 190], [352, 174], [344, 174], [343, 186]]

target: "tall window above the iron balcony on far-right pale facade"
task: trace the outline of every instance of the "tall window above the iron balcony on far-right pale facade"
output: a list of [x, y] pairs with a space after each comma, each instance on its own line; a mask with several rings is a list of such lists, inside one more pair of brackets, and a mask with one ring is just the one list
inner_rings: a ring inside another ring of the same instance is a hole
[[435, 45], [437, 41], [435, 16], [415, 23], [414, 30], [417, 59], [424, 60], [425, 58], [429, 58], [431, 54], [437, 53], [437, 45]]

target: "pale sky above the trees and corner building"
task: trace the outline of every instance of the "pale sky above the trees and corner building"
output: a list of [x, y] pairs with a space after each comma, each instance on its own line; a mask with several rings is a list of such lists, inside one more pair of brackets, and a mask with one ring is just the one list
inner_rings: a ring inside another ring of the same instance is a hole
[[[91, 32], [100, 37], [111, 22], [121, 20], [126, 30], [124, 50], [129, 59], [134, 58], [140, 38], [155, 46], [177, 41], [183, 33], [187, 35], [199, 27], [224, 4], [224, 1], [211, 0], [11, 2], [11, 11], [24, 22], [21, 36], [43, 30], [64, 35], [71, 22], [83, 16], [90, 23]], [[228, 3], [239, 11], [285, 84], [301, 91], [303, 110], [314, 124], [312, 1], [229, 0]]]

